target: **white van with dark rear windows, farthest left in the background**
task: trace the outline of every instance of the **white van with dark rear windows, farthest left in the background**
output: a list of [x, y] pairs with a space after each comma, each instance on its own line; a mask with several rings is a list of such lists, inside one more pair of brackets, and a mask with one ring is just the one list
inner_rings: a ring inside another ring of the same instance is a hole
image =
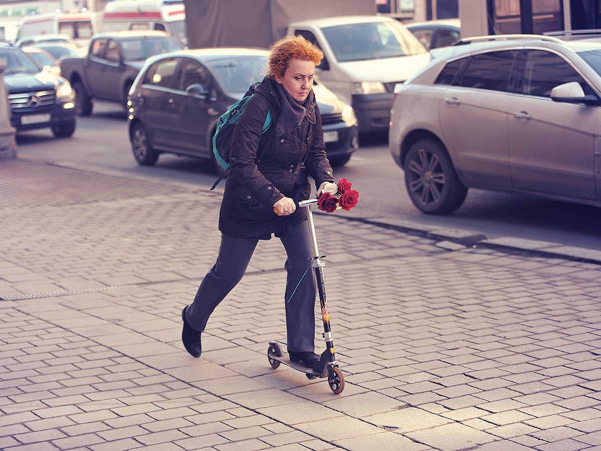
[[67, 35], [79, 46], [85, 46], [94, 34], [91, 14], [56, 13], [23, 17], [19, 24], [16, 41], [47, 34]]

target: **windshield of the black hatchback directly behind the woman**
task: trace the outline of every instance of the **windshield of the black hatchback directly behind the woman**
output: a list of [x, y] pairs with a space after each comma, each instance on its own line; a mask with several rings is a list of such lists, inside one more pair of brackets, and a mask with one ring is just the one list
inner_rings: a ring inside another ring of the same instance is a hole
[[239, 97], [253, 83], [263, 79], [267, 57], [240, 55], [208, 61], [207, 64], [225, 93]]

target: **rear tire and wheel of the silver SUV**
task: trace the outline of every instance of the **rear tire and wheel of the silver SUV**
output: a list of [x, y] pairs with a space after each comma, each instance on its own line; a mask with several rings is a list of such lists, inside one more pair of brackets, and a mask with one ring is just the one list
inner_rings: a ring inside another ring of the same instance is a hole
[[413, 205], [424, 213], [453, 213], [468, 194], [457, 177], [447, 149], [439, 141], [425, 139], [413, 144], [403, 169], [407, 193]]

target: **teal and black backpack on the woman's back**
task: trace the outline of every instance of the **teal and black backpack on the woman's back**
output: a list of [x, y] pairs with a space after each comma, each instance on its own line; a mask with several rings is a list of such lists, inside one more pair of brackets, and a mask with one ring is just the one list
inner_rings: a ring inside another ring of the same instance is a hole
[[[219, 185], [219, 182], [221, 182], [221, 180], [230, 170], [230, 152], [231, 143], [234, 137], [234, 128], [236, 128], [236, 123], [240, 118], [245, 106], [248, 104], [248, 101], [251, 100], [251, 97], [255, 95], [254, 88], [257, 85], [258, 83], [252, 85], [244, 97], [242, 97], [242, 99], [238, 102], [234, 103], [234, 105], [230, 106], [230, 108], [228, 108], [227, 111], [224, 112], [224, 114], [222, 114], [217, 121], [217, 129], [215, 130], [215, 135], [213, 135], [213, 154], [215, 154], [215, 160], [223, 168], [224, 172], [217, 180], [215, 180], [211, 190], [215, 189], [215, 187]], [[271, 111], [267, 111], [267, 117], [263, 123], [261, 135], [265, 133], [267, 129], [269, 129], [272, 122], [273, 118]]]

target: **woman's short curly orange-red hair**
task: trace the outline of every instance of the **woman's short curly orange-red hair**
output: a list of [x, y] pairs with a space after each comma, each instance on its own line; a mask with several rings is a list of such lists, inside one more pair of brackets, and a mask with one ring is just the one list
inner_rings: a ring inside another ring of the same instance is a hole
[[323, 52], [301, 35], [287, 36], [273, 43], [269, 48], [267, 75], [283, 77], [292, 58], [313, 61], [316, 66], [319, 66], [323, 59]]

